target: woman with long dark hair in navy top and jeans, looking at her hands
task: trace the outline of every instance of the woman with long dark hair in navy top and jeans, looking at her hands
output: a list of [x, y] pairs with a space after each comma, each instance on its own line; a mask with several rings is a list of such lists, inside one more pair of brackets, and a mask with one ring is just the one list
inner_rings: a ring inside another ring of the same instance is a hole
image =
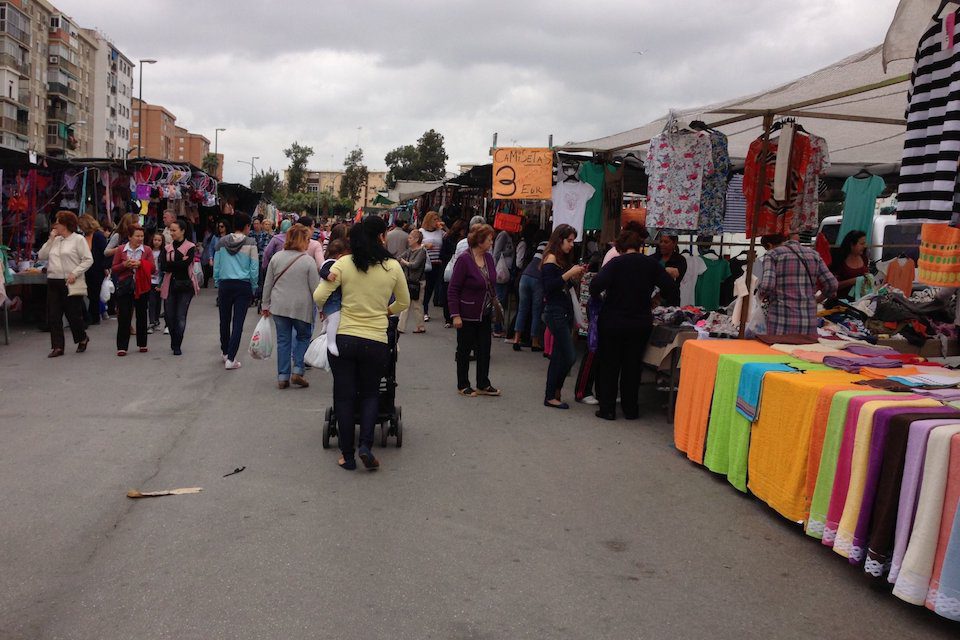
[[573, 243], [576, 239], [576, 229], [568, 224], [558, 225], [550, 235], [540, 262], [543, 317], [553, 334], [553, 353], [550, 355], [550, 366], [547, 367], [543, 406], [553, 409], [570, 408], [560, 399], [560, 390], [577, 359], [573, 346], [574, 317], [570, 287], [583, 277], [586, 267], [573, 264]]

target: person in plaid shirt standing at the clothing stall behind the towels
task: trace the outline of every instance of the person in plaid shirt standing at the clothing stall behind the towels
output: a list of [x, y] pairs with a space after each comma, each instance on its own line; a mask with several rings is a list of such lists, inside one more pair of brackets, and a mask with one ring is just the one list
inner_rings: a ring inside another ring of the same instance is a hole
[[[767, 334], [817, 333], [817, 303], [837, 292], [837, 278], [797, 234], [767, 254], [757, 293], [769, 302]], [[819, 291], [819, 295], [818, 292]]]

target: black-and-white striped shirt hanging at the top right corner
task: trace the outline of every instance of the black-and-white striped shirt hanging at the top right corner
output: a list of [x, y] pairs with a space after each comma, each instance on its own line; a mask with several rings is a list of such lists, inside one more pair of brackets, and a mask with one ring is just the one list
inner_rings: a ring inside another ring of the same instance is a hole
[[944, 47], [944, 22], [930, 22], [914, 59], [897, 217], [947, 220], [960, 200], [960, 30]]

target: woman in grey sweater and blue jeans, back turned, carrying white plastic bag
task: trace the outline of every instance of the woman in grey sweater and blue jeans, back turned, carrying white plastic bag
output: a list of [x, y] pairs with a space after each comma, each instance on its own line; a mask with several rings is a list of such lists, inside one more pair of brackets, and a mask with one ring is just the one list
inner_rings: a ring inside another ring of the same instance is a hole
[[303, 355], [310, 346], [313, 292], [320, 284], [320, 273], [314, 259], [307, 256], [309, 245], [307, 227], [299, 224], [291, 227], [284, 238], [283, 251], [274, 254], [263, 279], [261, 313], [264, 318], [273, 316], [277, 327], [277, 387], [280, 389], [286, 389], [291, 382], [298, 387], [310, 386], [303, 377]]

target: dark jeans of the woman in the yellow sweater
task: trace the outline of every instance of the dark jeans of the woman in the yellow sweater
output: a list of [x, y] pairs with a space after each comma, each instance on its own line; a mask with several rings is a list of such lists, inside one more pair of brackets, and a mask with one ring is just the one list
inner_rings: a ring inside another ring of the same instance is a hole
[[360, 446], [373, 447], [380, 403], [377, 396], [390, 359], [390, 347], [385, 342], [343, 334], [336, 340], [340, 355], [329, 354], [333, 370], [333, 410], [337, 416], [340, 451], [345, 459], [350, 459], [358, 418]]

